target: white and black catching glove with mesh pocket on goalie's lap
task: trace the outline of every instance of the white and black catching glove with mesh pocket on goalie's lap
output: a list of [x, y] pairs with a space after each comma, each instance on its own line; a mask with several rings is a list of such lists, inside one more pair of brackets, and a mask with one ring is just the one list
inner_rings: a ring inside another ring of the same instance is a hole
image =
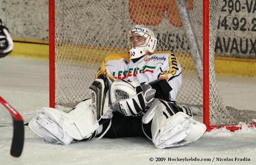
[[114, 110], [125, 116], [135, 116], [154, 101], [155, 89], [150, 85], [140, 85], [139, 80], [128, 83], [117, 79], [111, 84], [111, 103]]

